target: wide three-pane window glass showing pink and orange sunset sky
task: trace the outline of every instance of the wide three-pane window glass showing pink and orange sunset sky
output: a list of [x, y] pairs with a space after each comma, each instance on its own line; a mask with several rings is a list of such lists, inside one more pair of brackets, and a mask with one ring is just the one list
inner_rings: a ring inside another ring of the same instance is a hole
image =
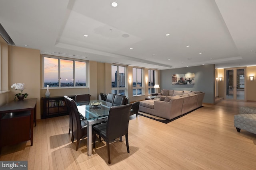
[[43, 57], [44, 87], [87, 87], [86, 61]]

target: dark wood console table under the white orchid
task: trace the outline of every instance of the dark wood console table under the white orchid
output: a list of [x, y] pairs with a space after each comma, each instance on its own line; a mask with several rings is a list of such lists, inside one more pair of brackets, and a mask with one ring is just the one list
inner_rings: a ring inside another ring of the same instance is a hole
[[12, 101], [0, 107], [0, 151], [3, 146], [30, 140], [36, 126], [36, 98]]

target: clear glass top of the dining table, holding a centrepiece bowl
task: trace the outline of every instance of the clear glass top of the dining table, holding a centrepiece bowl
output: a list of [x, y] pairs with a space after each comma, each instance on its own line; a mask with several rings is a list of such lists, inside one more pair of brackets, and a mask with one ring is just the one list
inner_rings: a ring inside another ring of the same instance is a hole
[[79, 113], [89, 120], [108, 116], [112, 104], [104, 100], [90, 100], [76, 102], [76, 106]]

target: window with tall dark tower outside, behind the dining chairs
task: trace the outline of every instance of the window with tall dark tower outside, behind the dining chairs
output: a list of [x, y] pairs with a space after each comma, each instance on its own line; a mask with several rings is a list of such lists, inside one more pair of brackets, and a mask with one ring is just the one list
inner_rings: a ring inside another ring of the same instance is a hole
[[126, 94], [126, 67], [112, 65], [112, 93]]

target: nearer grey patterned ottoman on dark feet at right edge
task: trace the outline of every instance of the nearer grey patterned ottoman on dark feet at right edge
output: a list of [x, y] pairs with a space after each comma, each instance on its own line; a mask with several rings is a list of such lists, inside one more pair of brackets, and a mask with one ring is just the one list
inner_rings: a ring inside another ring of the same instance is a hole
[[234, 127], [236, 127], [238, 132], [244, 129], [256, 134], [256, 114], [234, 115]]

